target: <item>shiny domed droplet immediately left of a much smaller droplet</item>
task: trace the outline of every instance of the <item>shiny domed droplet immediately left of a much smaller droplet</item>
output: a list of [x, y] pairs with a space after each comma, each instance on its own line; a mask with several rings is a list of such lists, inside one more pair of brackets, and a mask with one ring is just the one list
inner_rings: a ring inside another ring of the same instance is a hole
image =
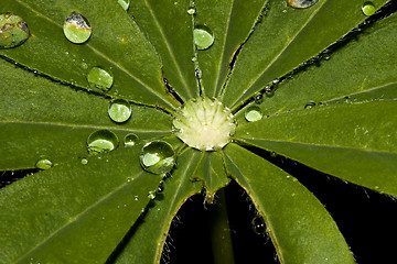
[[87, 140], [88, 153], [92, 155], [109, 152], [118, 146], [117, 135], [108, 130], [98, 130], [92, 133]]

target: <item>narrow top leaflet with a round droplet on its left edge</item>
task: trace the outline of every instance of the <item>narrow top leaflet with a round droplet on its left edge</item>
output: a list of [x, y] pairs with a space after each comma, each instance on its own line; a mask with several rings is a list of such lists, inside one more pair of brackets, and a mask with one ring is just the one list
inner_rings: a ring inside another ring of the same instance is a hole
[[207, 97], [223, 88], [229, 64], [238, 47], [246, 41], [265, 6], [265, 0], [202, 0], [196, 2], [194, 23], [207, 26], [214, 44], [197, 51], [201, 84]]

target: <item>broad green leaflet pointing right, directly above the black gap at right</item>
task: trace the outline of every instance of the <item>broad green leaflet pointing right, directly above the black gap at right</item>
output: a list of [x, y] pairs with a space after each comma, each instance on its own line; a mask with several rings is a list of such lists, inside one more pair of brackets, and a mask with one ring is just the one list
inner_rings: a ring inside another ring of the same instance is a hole
[[236, 136], [321, 172], [397, 196], [395, 100], [331, 105], [242, 125]]

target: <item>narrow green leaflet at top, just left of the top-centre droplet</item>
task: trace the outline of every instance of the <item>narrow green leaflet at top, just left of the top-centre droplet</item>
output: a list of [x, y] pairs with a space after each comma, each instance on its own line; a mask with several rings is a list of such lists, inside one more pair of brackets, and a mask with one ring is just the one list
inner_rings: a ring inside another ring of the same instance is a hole
[[131, 1], [129, 9], [159, 53], [169, 85], [184, 101], [198, 95], [192, 62], [193, 18], [187, 14], [190, 7], [186, 0], [137, 0]]

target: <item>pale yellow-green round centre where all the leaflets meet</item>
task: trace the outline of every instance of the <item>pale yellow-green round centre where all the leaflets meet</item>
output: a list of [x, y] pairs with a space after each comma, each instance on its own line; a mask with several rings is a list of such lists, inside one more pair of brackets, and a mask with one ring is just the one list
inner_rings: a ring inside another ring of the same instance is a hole
[[221, 150], [230, 141], [236, 122], [217, 99], [195, 98], [185, 102], [173, 121], [175, 134], [200, 151]]

